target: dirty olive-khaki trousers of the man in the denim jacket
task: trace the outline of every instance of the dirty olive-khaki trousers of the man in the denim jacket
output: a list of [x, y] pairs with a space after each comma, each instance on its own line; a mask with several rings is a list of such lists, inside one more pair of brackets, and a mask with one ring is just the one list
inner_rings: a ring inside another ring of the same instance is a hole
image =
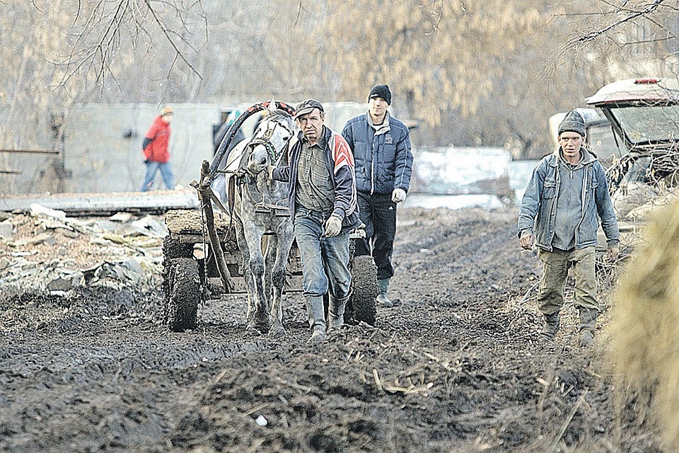
[[542, 277], [538, 290], [538, 306], [544, 314], [557, 313], [564, 304], [568, 270], [573, 267], [575, 294], [573, 304], [599, 309], [596, 300], [596, 251], [594, 247], [548, 252], [538, 249], [542, 260]]

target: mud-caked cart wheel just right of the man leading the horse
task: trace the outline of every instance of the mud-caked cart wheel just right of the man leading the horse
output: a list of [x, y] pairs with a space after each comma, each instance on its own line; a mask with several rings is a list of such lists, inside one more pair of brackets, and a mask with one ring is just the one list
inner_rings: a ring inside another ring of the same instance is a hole
[[371, 256], [355, 256], [350, 262], [352, 272], [352, 297], [347, 302], [344, 320], [349, 323], [363, 321], [375, 325], [377, 314], [375, 299], [379, 294], [377, 266]]

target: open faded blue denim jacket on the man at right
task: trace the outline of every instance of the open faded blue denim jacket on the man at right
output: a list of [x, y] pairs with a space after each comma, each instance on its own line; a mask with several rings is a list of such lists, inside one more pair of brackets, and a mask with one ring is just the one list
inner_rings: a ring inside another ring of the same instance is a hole
[[[576, 248], [596, 246], [596, 231], [601, 219], [601, 228], [606, 236], [608, 247], [617, 247], [620, 243], [620, 231], [617, 228], [613, 203], [608, 194], [603, 166], [586, 149], [582, 148], [583, 183], [580, 194], [580, 222], [575, 231]], [[526, 232], [535, 236], [539, 248], [552, 251], [552, 239], [555, 234], [555, 217], [557, 197], [559, 195], [559, 151], [540, 160], [530, 177], [526, 192], [521, 201], [518, 214], [518, 236]]]

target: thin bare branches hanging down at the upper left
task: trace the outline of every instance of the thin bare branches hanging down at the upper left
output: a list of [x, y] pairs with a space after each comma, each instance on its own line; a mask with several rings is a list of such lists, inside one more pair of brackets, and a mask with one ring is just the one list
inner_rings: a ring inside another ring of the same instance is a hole
[[200, 0], [80, 1], [67, 30], [69, 52], [59, 60], [59, 86], [76, 79], [81, 91], [124, 91], [134, 67], [151, 79], [168, 81], [184, 72], [201, 79], [195, 67], [208, 40]]

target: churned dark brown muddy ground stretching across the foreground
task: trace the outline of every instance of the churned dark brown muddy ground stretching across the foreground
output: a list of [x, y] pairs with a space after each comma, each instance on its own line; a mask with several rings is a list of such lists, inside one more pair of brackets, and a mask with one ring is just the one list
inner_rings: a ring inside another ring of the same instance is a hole
[[298, 293], [284, 340], [245, 331], [238, 294], [170, 333], [159, 280], [3, 297], [0, 449], [663, 452], [647, 401], [606, 360], [615, 272], [600, 279], [596, 348], [578, 347], [572, 304], [545, 345], [540, 266], [515, 225], [515, 209], [401, 209], [393, 306], [320, 348]]

